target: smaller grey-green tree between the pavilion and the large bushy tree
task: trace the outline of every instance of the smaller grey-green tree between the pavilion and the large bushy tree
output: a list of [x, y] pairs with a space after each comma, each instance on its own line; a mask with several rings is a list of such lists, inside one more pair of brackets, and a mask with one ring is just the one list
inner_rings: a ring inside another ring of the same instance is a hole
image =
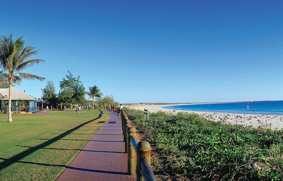
[[57, 104], [56, 88], [53, 81], [47, 81], [45, 88], [43, 89], [43, 98], [45, 101], [49, 102], [51, 105], [50, 109], [54, 108]]

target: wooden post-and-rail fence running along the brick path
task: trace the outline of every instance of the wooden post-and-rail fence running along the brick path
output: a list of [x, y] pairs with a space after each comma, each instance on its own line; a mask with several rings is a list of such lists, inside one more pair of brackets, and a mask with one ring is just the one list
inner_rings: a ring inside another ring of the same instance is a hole
[[[119, 108], [114, 108], [113, 111], [119, 113]], [[123, 109], [121, 120], [125, 153], [128, 153], [128, 174], [136, 174], [137, 181], [156, 180], [150, 166], [150, 144], [147, 141], [138, 142], [135, 136], [136, 129], [131, 127], [131, 122]]]

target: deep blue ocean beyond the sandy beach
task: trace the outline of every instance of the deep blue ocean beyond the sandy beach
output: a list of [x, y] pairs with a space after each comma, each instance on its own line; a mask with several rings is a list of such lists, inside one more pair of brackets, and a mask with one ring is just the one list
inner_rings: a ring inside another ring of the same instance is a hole
[[207, 103], [207, 104], [163, 106], [162, 108], [189, 110], [189, 111], [201, 111], [201, 112], [283, 115], [283, 100], [252, 101], [252, 102], [239, 102], [239, 103]]

